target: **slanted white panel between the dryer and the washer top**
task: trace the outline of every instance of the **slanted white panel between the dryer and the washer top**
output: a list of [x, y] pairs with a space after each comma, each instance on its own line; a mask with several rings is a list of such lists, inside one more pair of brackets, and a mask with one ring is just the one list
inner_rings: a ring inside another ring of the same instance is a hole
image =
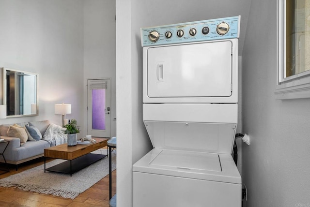
[[144, 121], [155, 148], [231, 154], [236, 124]]

